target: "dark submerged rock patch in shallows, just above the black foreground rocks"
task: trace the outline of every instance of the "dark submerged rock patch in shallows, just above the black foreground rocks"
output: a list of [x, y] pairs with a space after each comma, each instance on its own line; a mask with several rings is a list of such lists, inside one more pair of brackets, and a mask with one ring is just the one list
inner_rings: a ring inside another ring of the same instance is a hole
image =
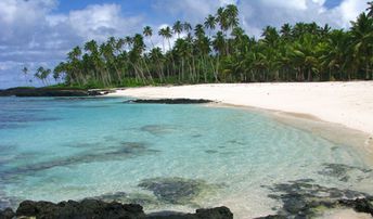
[[158, 201], [173, 205], [191, 205], [203, 193], [218, 188], [203, 180], [183, 178], [146, 179], [139, 186], [152, 191]]

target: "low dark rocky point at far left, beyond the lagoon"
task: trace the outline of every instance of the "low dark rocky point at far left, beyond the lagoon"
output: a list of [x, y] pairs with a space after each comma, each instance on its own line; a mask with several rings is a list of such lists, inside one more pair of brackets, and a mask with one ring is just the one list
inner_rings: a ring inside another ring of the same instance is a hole
[[111, 90], [86, 90], [70, 88], [10, 88], [0, 90], [0, 96], [88, 96], [104, 95]]

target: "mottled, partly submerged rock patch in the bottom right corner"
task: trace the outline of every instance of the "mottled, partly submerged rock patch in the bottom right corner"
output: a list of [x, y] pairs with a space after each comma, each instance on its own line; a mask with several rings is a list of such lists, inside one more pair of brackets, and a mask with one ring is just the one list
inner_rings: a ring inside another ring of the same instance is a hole
[[278, 215], [268, 216], [268, 218], [312, 218], [320, 216], [325, 209], [340, 207], [369, 214], [372, 214], [373, 209], [371, 204], [373, 197], [366, 193], [326, 188], [313, 183], [310, 179], [267, 188], [273, 192], [268, 195], [269, 197], [283, 203]]

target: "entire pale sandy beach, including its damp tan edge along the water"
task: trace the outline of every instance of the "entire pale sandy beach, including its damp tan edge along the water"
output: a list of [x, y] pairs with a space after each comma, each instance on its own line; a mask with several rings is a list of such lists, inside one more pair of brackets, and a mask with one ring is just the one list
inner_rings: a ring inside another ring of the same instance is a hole
[[[373, 81], [142, 87], [117, 89], [106, 96], [206, 99], [218, 102], [213, 105], [217, 107], [261, 112], [330, 141], [357, 145], [373, 165]], [[327, 115], [331, 116], [325, 118]]]

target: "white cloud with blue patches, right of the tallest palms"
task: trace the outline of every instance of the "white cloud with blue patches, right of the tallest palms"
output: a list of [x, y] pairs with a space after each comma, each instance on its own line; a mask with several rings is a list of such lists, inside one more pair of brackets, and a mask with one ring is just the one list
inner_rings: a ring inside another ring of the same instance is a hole
[[324, 0], [260, 0], [241, 1], [239, 9], [243, 25], [249, 35], [260, 36], [261, 29], [284, 23], [316, 22], [335, 28], [348, 28], [350, 21], [366, 8], [368, 0], [343, 0], [340, 5], [326, 9]]

